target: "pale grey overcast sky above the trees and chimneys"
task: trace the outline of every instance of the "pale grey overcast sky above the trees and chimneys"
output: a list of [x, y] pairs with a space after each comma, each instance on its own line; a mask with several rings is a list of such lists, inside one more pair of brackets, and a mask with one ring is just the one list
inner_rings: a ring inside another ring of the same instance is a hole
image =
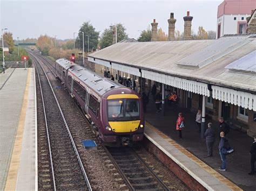
[[186, 11], [193, 16], [192, 30], [198, 26], [216, 31], [215, 1], [7, 1], [0, 0], [1, 29], [8, 28], [14, 39], [38, 38], [48, 34], [58, 39], [73, 38], [73, 32], [90, 20], [100, 34], [111, 24], [122, 23], [129, 38], [138, 38], [155, 18], [168, 33], [167, 19], [174, 12], [176, 30], [183, 32]]

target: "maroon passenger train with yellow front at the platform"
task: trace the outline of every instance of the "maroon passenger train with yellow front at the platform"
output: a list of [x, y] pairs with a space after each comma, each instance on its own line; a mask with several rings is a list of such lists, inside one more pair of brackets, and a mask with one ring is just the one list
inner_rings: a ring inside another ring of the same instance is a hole
[[56, 77], [84, 112], [101, 144], [132, 146], [143, 140], [142, 96], [76, 63], [58, 59]]

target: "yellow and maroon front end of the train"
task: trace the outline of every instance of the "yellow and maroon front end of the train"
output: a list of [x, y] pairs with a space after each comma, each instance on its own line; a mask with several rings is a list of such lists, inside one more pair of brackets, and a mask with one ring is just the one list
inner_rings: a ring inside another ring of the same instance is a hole
[[114, 145], [132, 145], [144, 136], [142, 97], [129, 88], [117, 88], [103, 98], [102, 140]]

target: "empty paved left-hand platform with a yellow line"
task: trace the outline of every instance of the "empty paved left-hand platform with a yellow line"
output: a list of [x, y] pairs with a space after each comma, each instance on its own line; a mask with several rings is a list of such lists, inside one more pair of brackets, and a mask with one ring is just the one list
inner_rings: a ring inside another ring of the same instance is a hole
[[33, 68], [0, 74], [0, 190], [37, 190], [35, 88]]

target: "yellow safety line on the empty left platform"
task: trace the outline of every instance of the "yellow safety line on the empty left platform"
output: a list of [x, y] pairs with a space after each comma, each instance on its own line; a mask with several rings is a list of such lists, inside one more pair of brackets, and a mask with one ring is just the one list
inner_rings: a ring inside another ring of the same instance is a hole
[[28, 105], [31, 71], [32, 71], [31, 68], [28, 68], [28, 77], [26, 79], [26, 88], [25, 88], [25, 93], [23, 98], [22, 110], [21, 110], [21, 114], [19, 115], [18, 129], [15, 137], [14, 149], [12, 150], [11, 162], [10, 162], [4, 190], [16, 189], [17, 175], [18, 175], [18, 169], [19, 169], [19, 159], [21, 157], [23, 131], [24, 131], [24, 125], [25, 125], [25, 118], [26, 118], [26, 106]]

